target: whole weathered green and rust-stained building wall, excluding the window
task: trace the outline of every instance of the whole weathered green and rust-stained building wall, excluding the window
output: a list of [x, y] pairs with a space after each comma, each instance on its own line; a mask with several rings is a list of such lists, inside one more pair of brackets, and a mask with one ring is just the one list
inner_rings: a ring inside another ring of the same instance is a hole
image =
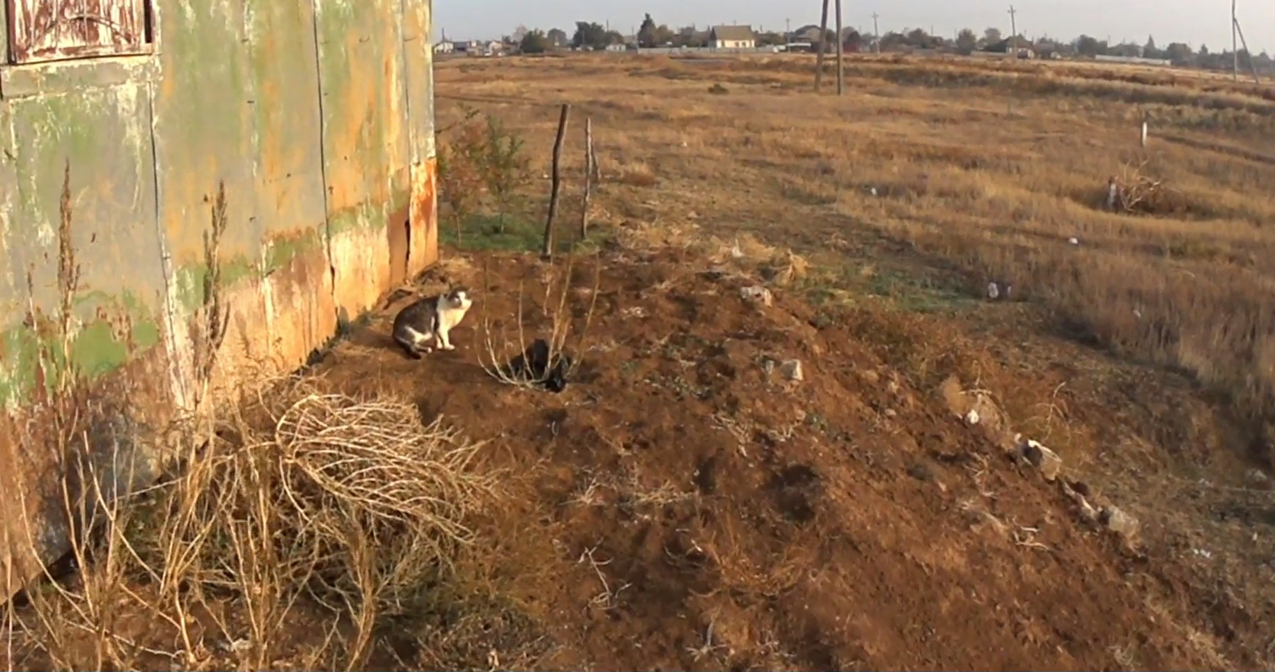
[[[154, 432], [189, 411], [218, 181], [226, 386], [302, 365], [338, 320], [437, 258], [431, 0], [153, 1], [150, 55], [0, 65], [5, 576], [66, 548], [55, 370], [69, 358], [91, 379], [76, 408], [93, 448], [136, 453], [148, 474], [166, 445]], [[80, 267], [69, 353], [47, 329], [66, 162]], [[110, 440], [121, 427], [140, 439]]]

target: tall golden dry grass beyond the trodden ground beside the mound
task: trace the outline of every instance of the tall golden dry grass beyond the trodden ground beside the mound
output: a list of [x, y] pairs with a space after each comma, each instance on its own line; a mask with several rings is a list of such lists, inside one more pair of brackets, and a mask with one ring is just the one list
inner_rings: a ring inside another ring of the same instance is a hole
[[[970, 288], [1005, 279], [1048, 307], [1054, 333], [1186, 370], [1251, 418], [1275, 411], [1271, 89], [1173, 70], [858, 57], [836, 98], [810, 93], [811, 69], [801, 56], [451, 62], [439, 110], [446, 120], [453, 99], [477, 102], [546, 139], [551, 107], [570, 102], [594, 120], [608, 173], [598, 208], [613, 224], [752, 232], [840, 268], [843, 284], [918, 263]], [[708, 93], [715, 82], [731, 94]], [[546, 145], [528, 144], [538, 166]], [[1142, 201], [1111, 212], [1108, 180], [1125, 173]]]

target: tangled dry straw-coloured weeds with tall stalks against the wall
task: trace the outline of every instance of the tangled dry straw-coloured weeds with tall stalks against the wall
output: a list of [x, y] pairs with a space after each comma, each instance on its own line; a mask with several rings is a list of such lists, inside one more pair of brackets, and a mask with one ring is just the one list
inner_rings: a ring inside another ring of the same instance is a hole
[[[224, 231], [219, 190], [191, 354], [200, 395], [228, 310]], [[73, 254], [61, 256], [73, 269]], [[76, 274], [62, 275], [74, 296]], [[173, 469], [138, 487], [140, 431], [112, 423], [103, 441], [75, 416], [84, 389], [75, 377], [52, 404], [69, 412], [50, 449], [61, 455], [55, 506], [71, 551], [10, 602], [10, 669], [362, 667], [388, 620], [422, 608], [426, 587], [453, 574], [451, 559], [473, 541], [469, 518], [496, 496], [493, 476], [470, 469], [481, 444], [441, 420], [423, 425], [412, 403], [297, 377], [242, 407], [200, 399], [213, 412], [178, 418]], [[19, 541], [40, 557], [48, 522], [24, 523]]]

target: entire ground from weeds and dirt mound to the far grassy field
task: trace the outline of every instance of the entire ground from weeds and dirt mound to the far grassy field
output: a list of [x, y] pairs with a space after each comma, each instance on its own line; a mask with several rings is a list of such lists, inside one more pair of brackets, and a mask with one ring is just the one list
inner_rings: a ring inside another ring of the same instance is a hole
[[[458, 349], [403, 357], [388, 297], [223, 418], [129, 552], [34, 593], [9, 659], [1269, 669], [1271, 91], [856, 59], [838, 98], [811, 65], [440, 64], [440, 145], [481, 110], [533, 177], [504, 232], [442, 210], [459, 245], [417, 291], [474, 289]], [[570, 267], [525, 254], [565, 102], [561, 236], [585, 116], [603, 175]], [[1108, 212], [1136, 166], [1163, 189]], [[484, 372], [505, 335], [562, 325], [583, 360], [561, 394]], [[1090, 515], [1111, 506], [1139, 528]]]

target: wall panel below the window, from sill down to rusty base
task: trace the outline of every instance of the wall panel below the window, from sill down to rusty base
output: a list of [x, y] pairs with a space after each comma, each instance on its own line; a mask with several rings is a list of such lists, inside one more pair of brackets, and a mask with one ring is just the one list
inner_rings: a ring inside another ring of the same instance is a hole
[[[154, 349], [162, 325], [157, 315], [164, 292], [162, 252], [156, 230], [154, 164], [145, 85], [124, 84], [69, 94], [46, 94], [8, 102], [13, 129], [13, 190], [15, 198], [4, 231], [9, 259], [22, 284], [6, 292], [27, 315], [28, 301], [45, 315], [57, 315], [59, 231], [64, 167], [70, 164], [73, 218], [70, 241], [80, 269], [74, 297], [75, 333], [69, 357], [79, 374], [97, 379], [133, 363], [138, 352]], [[0, 180], [3, 184], [3, 180]], [[26, 275], [31, 277], [27, 295]], [[10, 400], [40, 398], [40, 366], [34, 361], [46, 334], [28, 329], [27, 315], [6, 324], [6, 356], [0, 379]], [[142, 369], [135, 369], [142, 371]], [[126, 399], [135, 418], [145, 418], [150, 403], [163, 397], [167, 379], [154, 370], [139, 374], [148, 389]], [[154, 393], [154, 394], [152, 394]], [[0, 473], [8, 544], [0, 560], [22, 575], [34, 561], [50, 561], [68, 548], [61, 510], [48, 509], [59, 496], [61, 455], [50, 449], [42, 404], [5, 409], [0, 428]], [[84, 413], [92, 413], [84, 409]], [[134, 454], [143, 462], [153, 455]], [[15, 515], [23, 511], [24, 515]]]

